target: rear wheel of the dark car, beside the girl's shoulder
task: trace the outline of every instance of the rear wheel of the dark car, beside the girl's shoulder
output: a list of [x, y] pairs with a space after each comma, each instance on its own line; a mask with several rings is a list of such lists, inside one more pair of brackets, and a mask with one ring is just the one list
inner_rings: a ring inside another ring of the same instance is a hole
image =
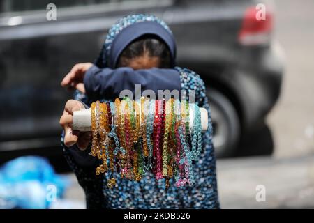
[[240, 120], [232, 102], [216, 89], [208, 89], [207, 97], [211, 109], [213, 144], [216, 157], [231, 157], [237, 151], [240, 139]]

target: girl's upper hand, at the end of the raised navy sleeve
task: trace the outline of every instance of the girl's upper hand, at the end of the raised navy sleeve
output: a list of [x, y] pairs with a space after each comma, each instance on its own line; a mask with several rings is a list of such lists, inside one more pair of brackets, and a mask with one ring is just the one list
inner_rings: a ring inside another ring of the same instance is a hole
[[85, 72], [93, 66], [93, 63], [77, 63], [70, 72], [63, 78], [61, 86], [68, 89], [77, 89], [82, 93], [85, 93], [85, 87], [83, 83]]

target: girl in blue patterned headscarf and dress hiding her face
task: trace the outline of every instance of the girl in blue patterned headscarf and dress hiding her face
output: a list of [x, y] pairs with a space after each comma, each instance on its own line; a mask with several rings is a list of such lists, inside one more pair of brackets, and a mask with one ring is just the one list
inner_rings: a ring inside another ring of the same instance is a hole
[[[202, 135], [202, 154], [195, 169], [193, 187], [172, 186], [147, 173], [140, 182], [116, 176], [117, 187], [107, 188], [107, 178], [96, 176], [98, 159], [89, 155], [89, 132], [70, 129], [73, 111], [87, 108], [95, 100], [114, 100], [124, 89], [194, 90], [195, 103], [207, 109], [204, 82], [195, 72], [175, 67], [176, 45], [169, 27], [153, 15], [129, 15], [112, 26], [95, 64], [79, 63], [61, 85], [80, 90], [66, 103], [63, 126], [63, 153], [75, 172], [87, 199], [87, 208], [219, 208], [216, 160], [211, 143], [212, 129]], [[80, 101], [79, 101], [80, 100]], [[209, 113], [210, 115], [210, 113]]]

